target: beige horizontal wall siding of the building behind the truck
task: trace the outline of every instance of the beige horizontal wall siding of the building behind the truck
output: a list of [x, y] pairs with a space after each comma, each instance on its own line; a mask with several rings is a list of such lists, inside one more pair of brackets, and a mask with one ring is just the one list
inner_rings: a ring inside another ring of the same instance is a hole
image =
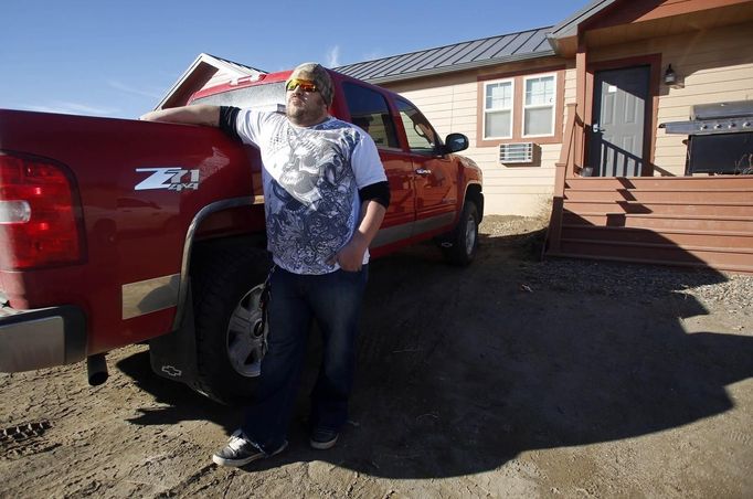
[[[657, 115], [657, 124], [660, 124], [688, 119], [697, 104], [753, 99], [751, 46], [753, 23], [746, 22], [592, 50], [588, 61], [661, 54], [662, 71], [667, 64], [672, 64], [681, 85], [672, 88], [661, 85]], [[538, 213], [535, 206], [541, 204], [537, 197], [551, 194], [554, 163], [559, 160], [561, 145], [543, 145], [534, 164], [516, 166], [499, 163], [498, 147], [476, 147], [477, 82], [478, 77], [543, 70], [556, 64], [563, 64], [563, 61], [547, 57], [384, 86], [416, 104], [442, 136], [450, 131], [468, 136], [470, 147], [464, 155], [484, 170], [487, 213], [532, 215]], [[570, 104], [577, 98], [576, 70], [574, 61], [568, 61], [565, 65], [564, 104]], [[583, 109], [579, 113], [582, 116]], [[656, 130], [653, 157], [657, 176], [685, 173], [687, 147], [683, 139], [685, 136]]]

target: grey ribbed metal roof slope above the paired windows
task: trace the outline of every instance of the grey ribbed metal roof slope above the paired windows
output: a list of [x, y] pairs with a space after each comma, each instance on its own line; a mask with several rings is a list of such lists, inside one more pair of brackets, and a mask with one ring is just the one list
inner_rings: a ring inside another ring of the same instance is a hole
[[335, 67], [370, 83], [396, 82], [505, 62], [554, 55], [547, 41], [552, 26], [471, 40], [402, 55]]

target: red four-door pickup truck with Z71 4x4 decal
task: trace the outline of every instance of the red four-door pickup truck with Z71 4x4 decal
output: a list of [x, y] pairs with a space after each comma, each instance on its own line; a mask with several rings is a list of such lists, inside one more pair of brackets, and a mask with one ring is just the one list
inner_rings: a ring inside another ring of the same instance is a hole
[[[203, 89], [178, 104], [283, 112], [289, 72]], [[371, 253], [435, 238], [468, 264], [481, 171], [404, 97], [331, 73], [330, 114], [365, 129], [392, 203]], [[265, 251], [256, 148], [208, 127], [0, 109], [0, 371], [149, 342], [158, 374], [229, 402], [253, 389]]]

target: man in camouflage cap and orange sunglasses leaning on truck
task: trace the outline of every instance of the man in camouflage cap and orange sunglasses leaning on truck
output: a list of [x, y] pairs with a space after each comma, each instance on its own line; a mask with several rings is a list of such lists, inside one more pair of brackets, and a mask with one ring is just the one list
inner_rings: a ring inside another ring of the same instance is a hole
[[267, 248], [275, 263], [268, 350], [243, 424], [212, 457], [222, 466], [244, 466], [287, 446], [311, 318], [325, 344], [311, 393], [311, 446], [332, 447], [347, 421], [368, 248], [390, 190], [371, 137], [329, 116], [332, 94], [327, 70], [305, 63], [286, 82], [285, 115], [197, 105], [141, 117], [220, 127], [262, 153]]

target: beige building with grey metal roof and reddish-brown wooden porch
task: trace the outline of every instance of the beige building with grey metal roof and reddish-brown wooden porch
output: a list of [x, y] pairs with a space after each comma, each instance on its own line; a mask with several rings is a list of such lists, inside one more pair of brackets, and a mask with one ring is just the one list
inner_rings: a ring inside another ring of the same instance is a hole
[[[751, 46], [753, 0], [595, 0], [335, 70], [467, 135], [485, 213], [550, 216], [548, 255], [753, 273]], [[262, 74], [201, 54], [158, 107]]]

